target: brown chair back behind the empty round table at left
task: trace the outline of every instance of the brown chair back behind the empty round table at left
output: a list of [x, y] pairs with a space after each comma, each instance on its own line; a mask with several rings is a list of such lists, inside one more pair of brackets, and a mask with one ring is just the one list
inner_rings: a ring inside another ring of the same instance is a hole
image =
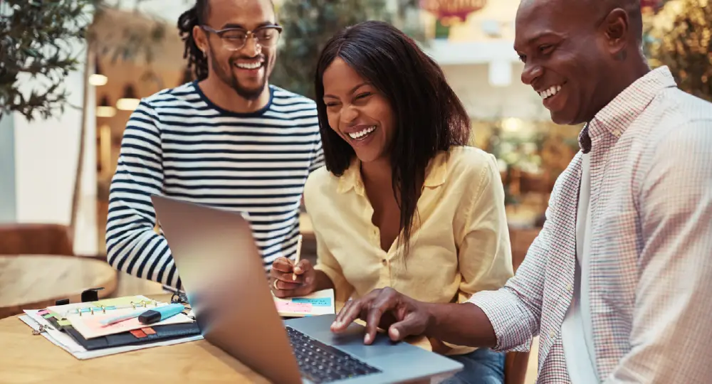
[[0, 224], [0, 255], [74, 255], [71, 232], [59, 224]]

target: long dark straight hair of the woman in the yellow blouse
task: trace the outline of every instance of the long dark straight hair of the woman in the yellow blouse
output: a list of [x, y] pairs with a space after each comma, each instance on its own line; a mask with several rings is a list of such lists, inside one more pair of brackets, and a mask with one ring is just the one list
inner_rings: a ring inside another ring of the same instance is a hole
[[322, 50], [315, 91], [326, 168], [341, 176], [355, 152], [329, 127], [324, 103], [323, 74], [341, 58], [382, 92], [394, 111], [396, 134], [391, 149], [392, 186], [401, 210], [399, 242], [407, 255], [413, 217], [425, 169], [438, 151], [466, 145], [470, 119], [439, 65], [405, 33], [381, 21], [366, 21], [343, 29]]

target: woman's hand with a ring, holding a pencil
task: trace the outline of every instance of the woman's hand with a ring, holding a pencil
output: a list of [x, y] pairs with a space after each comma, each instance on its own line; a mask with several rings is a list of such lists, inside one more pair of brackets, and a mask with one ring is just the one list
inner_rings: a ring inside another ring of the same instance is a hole
[[276, 297], [305, 296], [316, 290], [316, 271], [309, 260], [294, 265], [292, 260], [280, 257], [273, 262], [270, 277]]

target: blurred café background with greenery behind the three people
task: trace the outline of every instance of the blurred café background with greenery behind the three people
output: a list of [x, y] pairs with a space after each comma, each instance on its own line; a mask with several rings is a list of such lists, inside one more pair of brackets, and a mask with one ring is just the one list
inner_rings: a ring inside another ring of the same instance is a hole
[[[686, 92], [711, 100], [708, 0], [642, 2], [651, 65], [669, 65]], [[271, 82], [304, 95], [313, 95], [315, 59], [337, 29], [382, 19], [419, 41], [466, 105], [472, 144], [499, 160], [518, 264], [581, 128], [551, 123], [520, 82], [512, 48], [519, 1], [275, 3], [284, 32]], [[176, 24], [193, 1], [44, 4], [0, 0], [0, 254], [103, 260], [108, 188], [127, 119], [141, 97], [192, 80]], [[308, 232], [308, 213], [302, 221]], [[309, 238], [305, 249], [313, 252]], [[150, 293], [130, 279], [120, 276], [116, 292]]]

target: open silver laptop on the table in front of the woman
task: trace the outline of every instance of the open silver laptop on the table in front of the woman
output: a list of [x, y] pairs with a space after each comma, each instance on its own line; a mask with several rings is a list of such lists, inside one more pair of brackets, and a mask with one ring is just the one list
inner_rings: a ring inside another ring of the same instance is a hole
[[207, 341], [273, 383], [401, 383], [444, 378], [454, 360], [365, 328], [333, 334], [334, 315], [282, 319], [244, 213], [152, 196], [157, 218]]

